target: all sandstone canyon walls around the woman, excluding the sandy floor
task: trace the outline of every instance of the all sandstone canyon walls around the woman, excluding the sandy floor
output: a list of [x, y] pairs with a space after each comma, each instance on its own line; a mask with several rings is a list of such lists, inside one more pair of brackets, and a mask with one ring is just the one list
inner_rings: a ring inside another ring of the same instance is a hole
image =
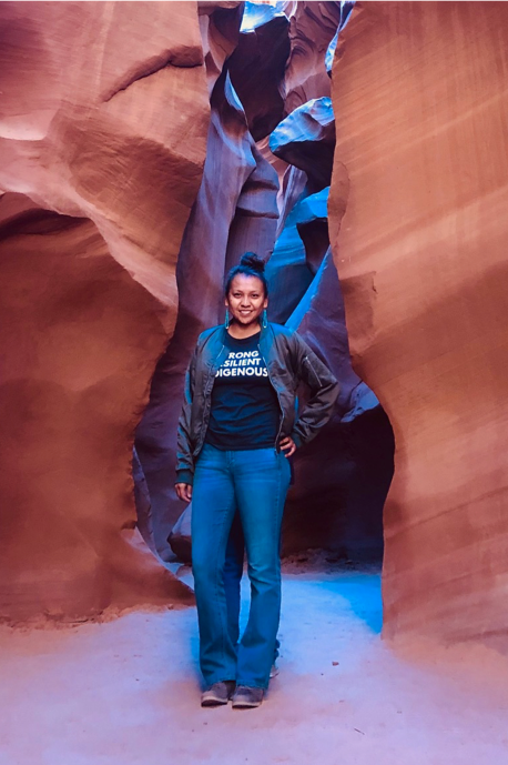
[[343, 385], [285, 550], [380, 552], [388, 415], [385, 633], [501, 641], [508, 10], [260, 8], [0, 9], [0, 620], [191, 602], [132, 471], [169, 557], [185, 366], [254, 250]]

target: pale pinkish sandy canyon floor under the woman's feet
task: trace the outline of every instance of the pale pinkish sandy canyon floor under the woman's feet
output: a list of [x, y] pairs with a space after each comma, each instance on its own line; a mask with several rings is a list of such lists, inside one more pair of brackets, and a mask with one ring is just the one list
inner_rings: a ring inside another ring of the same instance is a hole
[[284, 575], [281, 674], [202, 709], [194, 608], [0, 630], [0, 765], [508, 765], [508, 661], [388, 646], [379, 576]]

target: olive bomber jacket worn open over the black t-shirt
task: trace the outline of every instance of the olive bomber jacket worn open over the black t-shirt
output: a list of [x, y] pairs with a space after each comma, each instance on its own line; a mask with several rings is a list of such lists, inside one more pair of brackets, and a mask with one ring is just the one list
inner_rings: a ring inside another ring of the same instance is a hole
[[[192, 484], [194, 464], [203, 446], [210, 420], [215, 374], [227, 356], [225, 328], [213, 326], [197, 339], [185, 378], [185, 399], [179, 422], [176, 483]], [[287, 435], [296, 446], [308, 443], [325, 425], [338, 396], [338, 383], [306, 342], [281, 324], [262, 328], [260, 352], [281, 406], [277, 440]], [[308, 385], [311, 397], [296, 419], [296, 391]]]

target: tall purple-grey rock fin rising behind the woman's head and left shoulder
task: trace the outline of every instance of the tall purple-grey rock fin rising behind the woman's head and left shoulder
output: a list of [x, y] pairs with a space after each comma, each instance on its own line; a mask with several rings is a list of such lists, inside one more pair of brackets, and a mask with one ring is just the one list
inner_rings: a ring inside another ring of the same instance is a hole
[[277, 177], [247, 130], [228, 76], [212, 94], [207, 154], [177, 264], [179, 318], [159, 361], [136, 451], [146, 477], [156, 546], [167, 558], [167, 535], [182, 513], [174, 492], [176, 426], [185, 369], [197, 335], [223, 321], [224, 273], [245, 250], [267, 258], [277, 223]]

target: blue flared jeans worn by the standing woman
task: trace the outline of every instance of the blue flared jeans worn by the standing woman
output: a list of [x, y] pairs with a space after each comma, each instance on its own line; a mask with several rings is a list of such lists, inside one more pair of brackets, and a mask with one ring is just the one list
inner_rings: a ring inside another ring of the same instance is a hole
[[[201, 671], [207, 684], [236, 680], [266, 688], [281, 613], [280, 538], [289, 463], [275, 449], [223, 452], [205, 444], [192, 495], [192, 567]], [[236, 646], [224, 564], [238, 510], [247, 552], [251, 611]]]

